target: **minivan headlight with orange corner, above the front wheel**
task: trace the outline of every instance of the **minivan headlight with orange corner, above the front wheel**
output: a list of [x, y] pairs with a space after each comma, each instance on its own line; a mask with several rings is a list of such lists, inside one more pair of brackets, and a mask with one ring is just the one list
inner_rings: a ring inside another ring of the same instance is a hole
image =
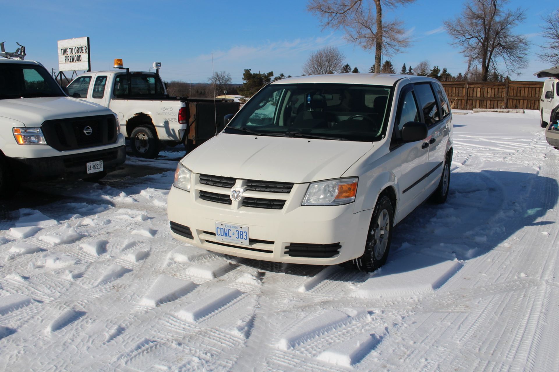
[[340, 205], [355, 201], [358, 178], [312, 182], [301, 205]]

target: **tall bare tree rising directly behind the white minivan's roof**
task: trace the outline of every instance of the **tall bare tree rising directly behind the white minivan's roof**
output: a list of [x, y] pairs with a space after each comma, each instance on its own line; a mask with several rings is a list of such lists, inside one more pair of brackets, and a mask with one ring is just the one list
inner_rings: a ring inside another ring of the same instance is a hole
[[391, 56], [410, 44], [404, 22], [387, 21], [382, 7], [395, 8], [415, 0], [309, 0], [307, 11], [318, 16], [323, 28], [345, 31], [347, 40], [363, 49], [375, 49], [375, 71], [382, 55]]

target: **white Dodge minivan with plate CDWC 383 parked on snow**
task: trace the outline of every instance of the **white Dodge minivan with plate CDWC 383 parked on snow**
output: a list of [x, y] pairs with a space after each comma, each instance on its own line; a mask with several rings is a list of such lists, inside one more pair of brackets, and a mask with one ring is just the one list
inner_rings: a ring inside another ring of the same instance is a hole
[[339, 74], [265, 86], [177, 166], [174, 238], [214, 252], [360, 270], [392, 227], [448, 195], [452, 114], [437, 80]]

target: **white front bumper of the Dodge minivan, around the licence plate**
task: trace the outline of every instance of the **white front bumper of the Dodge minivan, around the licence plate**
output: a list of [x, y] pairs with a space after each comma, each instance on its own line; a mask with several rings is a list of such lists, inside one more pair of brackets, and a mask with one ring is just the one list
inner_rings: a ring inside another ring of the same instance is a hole
[[[173, 186], [167, 200], [172, 236], [212, 252], [273, 262], [334, 265], [360, 257], [372, 211], [354, 213], [353, 203], [301, 206], [306, 185], [296, 186], [281, 210], [231, 209]], [[249, 245], [218, 240], [216, 223], [248, 226]]]

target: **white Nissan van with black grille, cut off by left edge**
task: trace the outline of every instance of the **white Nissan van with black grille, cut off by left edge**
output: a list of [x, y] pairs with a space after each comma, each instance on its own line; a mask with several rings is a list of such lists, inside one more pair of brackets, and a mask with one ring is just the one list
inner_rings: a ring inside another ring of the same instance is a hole
[[0, 198], [23, 181], [100, 179], [125, 159], [111, 110], [68, 97], [39, 62], [0, 59]]

